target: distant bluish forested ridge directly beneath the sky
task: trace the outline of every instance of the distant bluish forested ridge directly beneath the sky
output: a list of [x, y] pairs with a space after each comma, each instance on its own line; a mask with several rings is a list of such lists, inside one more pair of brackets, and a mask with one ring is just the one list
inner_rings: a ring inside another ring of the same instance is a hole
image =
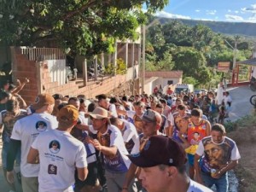
[[159, 18], [161, 23], [166, 23], [170, 20], [179, 20], [188, 26], [203, 25], [208, 26], [213, 32], [220, 32], [230, 35], [243, 35], [256, 37], [256, 23], [241, 23], [241, 22], [220, 22], [210, 20], [183, 20], [183, 19], [170, 19]]

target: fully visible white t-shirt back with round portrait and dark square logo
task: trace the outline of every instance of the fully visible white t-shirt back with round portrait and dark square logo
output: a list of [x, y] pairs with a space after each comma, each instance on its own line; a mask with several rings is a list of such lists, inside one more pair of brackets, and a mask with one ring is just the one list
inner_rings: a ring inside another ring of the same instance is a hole
[[39, 152], [39, 192], [73, 192], [75, 168], [87, 166], [84, 143], [67, 131], [53, 130], [40, 134], [32, 148]]

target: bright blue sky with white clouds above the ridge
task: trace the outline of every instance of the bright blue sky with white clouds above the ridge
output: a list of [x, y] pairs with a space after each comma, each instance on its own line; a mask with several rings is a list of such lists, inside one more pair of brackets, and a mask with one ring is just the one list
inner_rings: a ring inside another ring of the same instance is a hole
[[156, 16], [256, 23], [256, 0], [169, 0]]

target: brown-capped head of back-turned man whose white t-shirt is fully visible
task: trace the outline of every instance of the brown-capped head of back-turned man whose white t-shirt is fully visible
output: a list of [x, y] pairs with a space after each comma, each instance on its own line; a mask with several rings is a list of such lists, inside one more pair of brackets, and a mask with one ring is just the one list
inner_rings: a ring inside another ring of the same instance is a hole
[[67, 130], [73, 128], [77, 124], [79, 119], [79, 110], [73, 105], [66, 105], [60, 109], [57, 114], [57, 120], [59, 121], [59, 128]]

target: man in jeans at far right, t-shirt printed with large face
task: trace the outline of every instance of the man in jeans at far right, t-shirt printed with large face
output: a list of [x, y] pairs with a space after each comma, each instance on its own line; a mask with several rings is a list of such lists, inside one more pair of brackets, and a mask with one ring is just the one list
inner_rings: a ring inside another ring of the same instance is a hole
[[197, 181], [209, 188], [215, 184], [217, 192], [228, 191], [227, 172], [233, 169], [241, 158], [236, 143], [225, 137], [225, 133], [224, 125], [212, 125], [211, 136], [201, 140], [194, 161]]

